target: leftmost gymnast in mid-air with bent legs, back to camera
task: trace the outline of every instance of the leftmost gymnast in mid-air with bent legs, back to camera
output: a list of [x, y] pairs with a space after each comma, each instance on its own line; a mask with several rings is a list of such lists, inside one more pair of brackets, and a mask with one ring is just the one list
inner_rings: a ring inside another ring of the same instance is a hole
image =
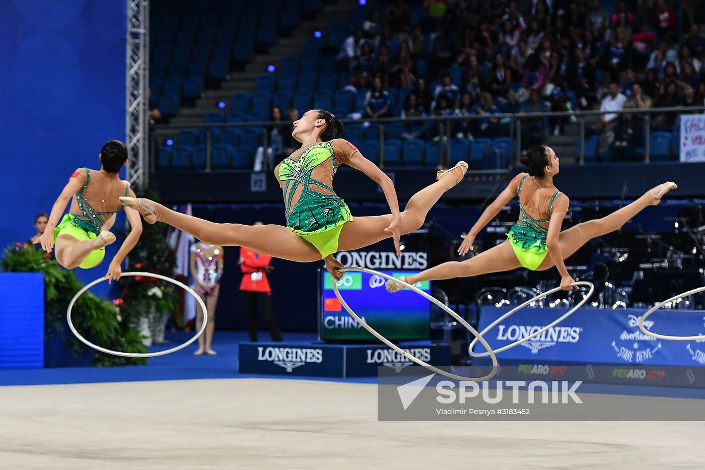
[[[101, 169], [79, 168], [73, 172], [51, 207], [44, 234], [34, 242], [40, 243], [47, 253], [55, 249], [56, 260], [68, 269], [88, 269], [102, 262], [105, 247], [115, 241], [115, 235], [109, 230], [121, 207], [118, 198], [135, 195], [130, 189], [130, 183], [121, 181], [119, 175], [128, 159], [125, 144], [119, 140], [110, 140], [103, 145], [99, 158]], [[69, 200], [71, 209], [59, 222]], [[125, 215], [132, 230], [108, 267], [108, 282], [120, 279], [121, 263], [142, 234], [140, 214], [125, 207]]]

